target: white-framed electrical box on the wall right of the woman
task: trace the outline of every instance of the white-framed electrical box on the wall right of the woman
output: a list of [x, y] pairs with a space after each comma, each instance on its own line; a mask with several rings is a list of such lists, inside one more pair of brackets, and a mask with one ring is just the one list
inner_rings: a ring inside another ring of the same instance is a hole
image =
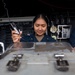
[[71, 25], [58, 25], [57, 39], [70, 38]]

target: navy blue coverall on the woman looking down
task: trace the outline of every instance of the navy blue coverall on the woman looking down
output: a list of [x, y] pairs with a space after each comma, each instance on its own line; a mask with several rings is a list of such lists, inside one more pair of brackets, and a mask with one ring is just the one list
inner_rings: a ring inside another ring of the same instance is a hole
[[[55, 42], [52, 37], [48, 35], [44, 35], [43, 39], [40, 42]], [[38, 42], [37, 38], [34, 34], [31, 34], [30, 36], [23, 36], [20, 40], [20, 42]]]

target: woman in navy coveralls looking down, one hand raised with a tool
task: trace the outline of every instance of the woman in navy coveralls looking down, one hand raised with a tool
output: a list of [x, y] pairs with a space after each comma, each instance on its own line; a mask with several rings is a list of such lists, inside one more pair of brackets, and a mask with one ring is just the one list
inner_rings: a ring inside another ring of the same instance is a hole
[[39, 14], [33, 19], [33, 28], [34, 33], [30, 36], [23, 36], [22, 32], [20, 34], [16, 34], [15, 31], [12, 31], [12, 39], [13, 42], [55, 42], [55, 40], [46, 35], [48, 27], [48, 18]]

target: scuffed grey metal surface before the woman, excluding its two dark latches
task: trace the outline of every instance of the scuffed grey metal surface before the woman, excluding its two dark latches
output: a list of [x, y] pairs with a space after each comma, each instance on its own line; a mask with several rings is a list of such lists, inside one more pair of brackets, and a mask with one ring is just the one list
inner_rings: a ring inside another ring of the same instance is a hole
[[[68, 43], [59, 43], [61, 47], [57, 43], [45, 42], [30, 43], [29, 45], [28, 48], [28, 43], [27, 46], [26, 43], [19, 43], [18, 45], [13, 44], [9, 48], [8, 55], [0, 60], [1, 75], [75, 75], [75, 52], [71, 51], [71, 46]], [[55, 53], [65, 55], [63, 59], [69, 62], [67, 72], [58, 71], [55, 68]], [[16, 72], [8, 71], [6, 66], [8, 61], [13, 59], [14, 54], [23, 54], [22, 59], [20, 59], [21, 65]]]

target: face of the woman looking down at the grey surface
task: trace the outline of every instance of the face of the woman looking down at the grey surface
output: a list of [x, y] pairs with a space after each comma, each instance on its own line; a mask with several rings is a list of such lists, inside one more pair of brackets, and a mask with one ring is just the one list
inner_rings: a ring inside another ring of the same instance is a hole
[[47, 30], [47, 23], [45, 22], [44, 19], [39, 18], [36, 20], [36, 22], [34, 23], [34, 31], [38, 36], [42, 36], [44, 35], [44, 33], [46, 33]]

